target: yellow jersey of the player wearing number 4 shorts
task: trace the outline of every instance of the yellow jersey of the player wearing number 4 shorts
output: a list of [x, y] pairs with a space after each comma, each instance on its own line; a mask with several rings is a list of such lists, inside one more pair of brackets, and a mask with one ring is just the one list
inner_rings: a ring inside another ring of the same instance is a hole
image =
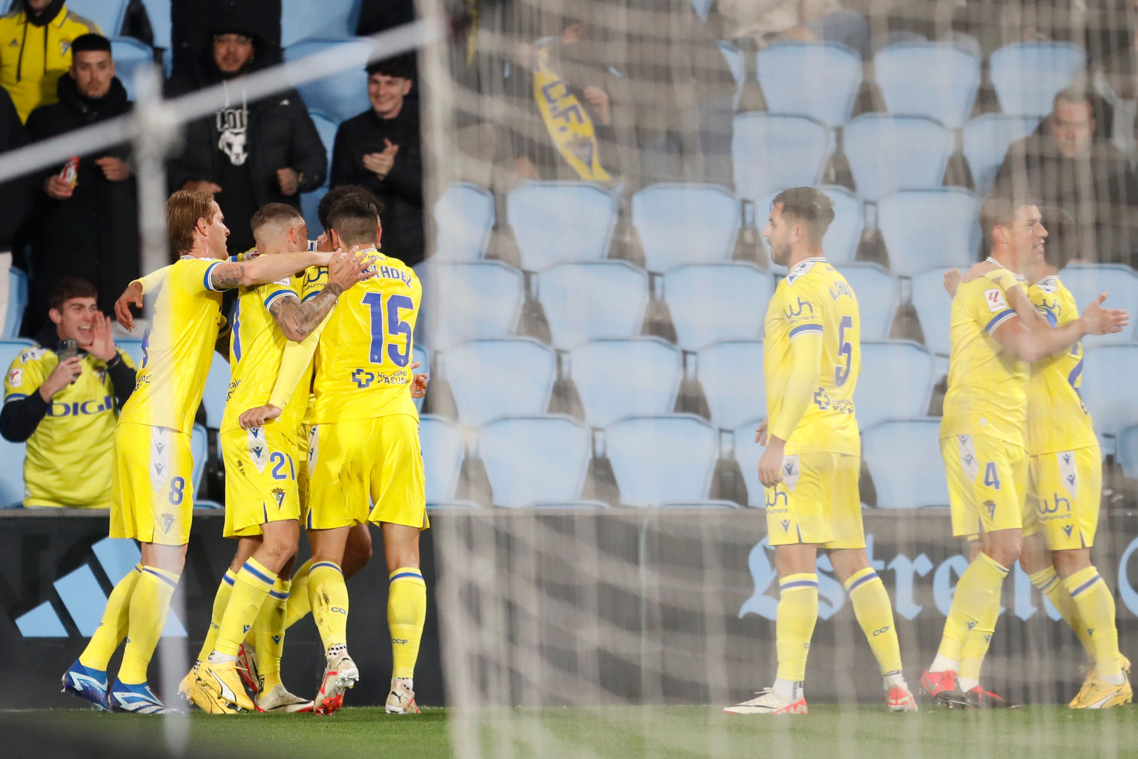
[[1026, 447], [1029, 366], [992, 337], [1016, 317], [1007, 303], [1012, 288], [1023, 290], [1023, 279], [999, 267], [956, 289], [941, 438], [990, 435]]

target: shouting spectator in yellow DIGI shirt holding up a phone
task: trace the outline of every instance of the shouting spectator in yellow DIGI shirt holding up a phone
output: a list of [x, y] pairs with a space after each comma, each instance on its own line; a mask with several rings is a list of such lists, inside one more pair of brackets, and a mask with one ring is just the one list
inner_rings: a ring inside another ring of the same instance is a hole
[[108, 509], [115, 424], [134, 390], [134, 364], [115, 347], [90, 282], [57, 282], [49, 313], [35, 345], [8, 368], [0, 435], [27, 442], [25, 506]]

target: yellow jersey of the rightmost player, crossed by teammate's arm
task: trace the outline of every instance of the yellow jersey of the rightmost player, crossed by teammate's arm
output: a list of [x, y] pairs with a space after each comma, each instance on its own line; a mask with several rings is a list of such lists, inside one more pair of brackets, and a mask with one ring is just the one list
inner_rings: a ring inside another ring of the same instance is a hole
[[[1028, 288], [1028, 297], [1052, 327], [1079, 319], [1071, 290], [1058, 277], [1045, 277]], [[1098, 445], [1095, 426], [1082, 403], [1082, 340], [1031, 364], [1028, 385], [1028, 453], [1078, 451]]]

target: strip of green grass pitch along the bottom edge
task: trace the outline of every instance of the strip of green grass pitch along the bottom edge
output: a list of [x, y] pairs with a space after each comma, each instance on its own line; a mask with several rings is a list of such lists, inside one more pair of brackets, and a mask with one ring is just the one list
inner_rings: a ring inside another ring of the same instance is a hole
[[[805, 717], [731, 717], [711, 707], [613, 707], [487, 710], [478, 727], [481, 756], [609, 757], [696, 759], [702, 757], [809, 757], [822, 759], [1138, 756], [1138, 709], [1103, 712], [1063, 707], [1016, 710], [933, 711], [890, 715], [883, 707], [810, 707]], [[8, 715], [11, 717], [13, 715]], [[25, 712], [22, 719], [52, 731], [148, 745], [163, 741], [159, 718], [76, 710]], [[511, 723], [516, 736], [545, 736], [535, 751], [520, 742], [513, 751], [494, 733], [494, 723]], [[291, 759], [292, 757], [455, 756], [445, 709], [418, 717], [389, 717], [377, 708], [345, 708], [332, 717], [312, 715], [238, 715], [189, 717], [189, 748], [218, 757]], [[539, 724], [541, 731], [531, 731]], [[472, 756], [462, 752], [460, 756]]]

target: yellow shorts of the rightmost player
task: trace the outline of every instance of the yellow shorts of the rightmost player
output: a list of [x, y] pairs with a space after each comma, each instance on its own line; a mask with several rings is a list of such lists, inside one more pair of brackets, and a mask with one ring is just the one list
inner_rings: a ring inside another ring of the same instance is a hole
[[1103, 497], [1103, 459], [1097, 445], [1031, 456], [1028, 502], [1036, 510], [1047, 547], [1087, 548], [1095, 544]]

